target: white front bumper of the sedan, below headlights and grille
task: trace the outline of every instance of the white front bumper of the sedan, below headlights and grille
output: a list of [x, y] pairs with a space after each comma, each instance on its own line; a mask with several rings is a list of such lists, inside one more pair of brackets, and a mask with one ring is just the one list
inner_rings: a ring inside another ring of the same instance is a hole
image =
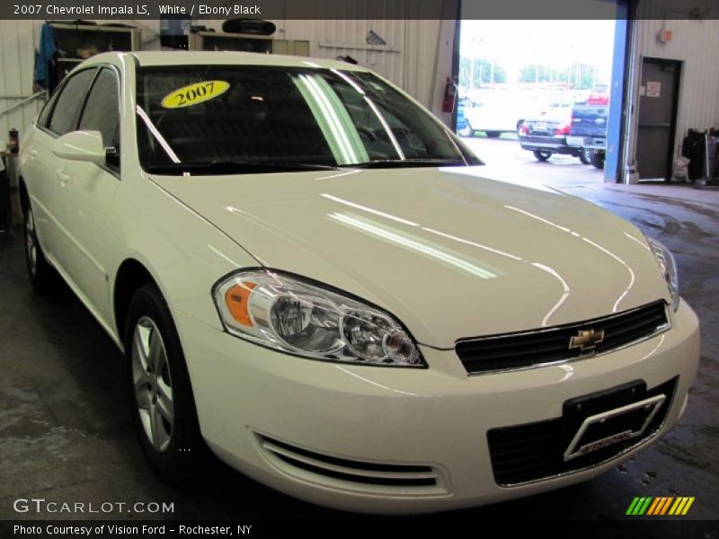
[[[454, 350], [422, 346], [428, 369], [323, 363], [177, 320], [202, 435], [218, 456], [297, 498], [371, 513], [519, 498], [587, 480], [633, 455], [649, 440], [590, 469], [508, 488], [494, 481], [487, 431], [561, 417], [565, 401], [618, 384], [643, 380], [651, 389], [679, 376], [656, 439], [684, 410], [699, 357], [691, 308], [682, 302], [671, 322], [670, 331], [597, 358], [467, 376]], [[330, 472], [317, 473], [316, 458]], [[346, 480], [347, 463], [358, 461], [377, 464], [359, 472], [368, 482]]]

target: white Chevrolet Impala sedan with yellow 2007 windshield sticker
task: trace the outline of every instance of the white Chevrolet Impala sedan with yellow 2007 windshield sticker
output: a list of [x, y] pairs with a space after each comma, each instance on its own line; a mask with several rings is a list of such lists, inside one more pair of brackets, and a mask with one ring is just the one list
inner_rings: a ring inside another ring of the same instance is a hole
[[587, 480], [666, 433], [697, 371], [670, 252], [490, 180], [359, 66], [108, 53], [22, 144], [27, 263], [127, 360], [169, 481], [212, 453], [301, 499], [412, 513]]

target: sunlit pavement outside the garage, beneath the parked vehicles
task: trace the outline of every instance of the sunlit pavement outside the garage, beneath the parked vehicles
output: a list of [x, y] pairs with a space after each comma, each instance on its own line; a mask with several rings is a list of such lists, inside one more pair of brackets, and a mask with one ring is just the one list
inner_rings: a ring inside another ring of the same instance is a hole
[[523, 150], [517, 137], [510, 133], [502, 135], [501, 138], [475, 136], [462, 140], [484, 163], [491, 165], [493, 169], [502, 168], [502, 176], [507, 181], [511, 181], [515, 174], [518, 181], [537, 181], [553, 186], [586, 185], [604, 181], [603, 171], [590, 164], [581, 164], [578, 157], [552, 155], [546, 163], [537, 161], [532, 152]]

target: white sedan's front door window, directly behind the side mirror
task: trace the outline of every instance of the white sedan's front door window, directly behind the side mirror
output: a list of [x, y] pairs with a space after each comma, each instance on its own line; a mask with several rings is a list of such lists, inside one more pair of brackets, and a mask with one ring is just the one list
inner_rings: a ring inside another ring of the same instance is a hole
[[118, 84], [114, 71], [107, 68], [100, 71], [87, 97], [79, 127], [85, 131], [100, 131], [102, 144], [116, 149], [120, 143]]

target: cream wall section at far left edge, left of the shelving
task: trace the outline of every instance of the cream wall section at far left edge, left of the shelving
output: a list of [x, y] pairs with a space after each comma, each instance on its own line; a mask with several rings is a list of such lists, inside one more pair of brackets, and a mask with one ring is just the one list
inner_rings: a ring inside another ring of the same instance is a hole
[[[0, 20], [0, 112], [32, 95], [35, 49], [40, 39], [40, 22]], [[34, 100], [0, 116], [0, 138], [7, 132], [24, 132], [40, 112], [43, 100]]]

